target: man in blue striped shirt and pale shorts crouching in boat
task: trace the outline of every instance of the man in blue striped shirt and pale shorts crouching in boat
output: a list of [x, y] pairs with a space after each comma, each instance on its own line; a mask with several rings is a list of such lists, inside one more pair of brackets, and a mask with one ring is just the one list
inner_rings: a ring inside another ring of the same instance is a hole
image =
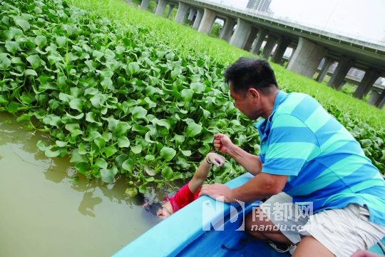
[[215, 148], [255, 177], [233, 189], [204, 185], [200, 196], [227, 203], [272, 196], [247, 214], [247, 231], [297, 244], [294, 256], [351, 256], [381, 240], [385, 181], [349, 131], [312, 97], [279, 91], [267, 61], [240, 58], [224, 76], [235, 107], [250, 120], [263, 118], [255, 124], [260, 156], [215, 135]]

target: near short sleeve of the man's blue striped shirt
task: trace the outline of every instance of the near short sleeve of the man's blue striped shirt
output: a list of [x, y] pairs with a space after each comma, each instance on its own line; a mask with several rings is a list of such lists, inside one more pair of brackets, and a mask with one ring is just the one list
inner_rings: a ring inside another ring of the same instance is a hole
[[262, 172], [297, 176], [321, 152], [317, 136], [295, 116], [280, 114], [275, 118], [269, 136], [261, 142]]

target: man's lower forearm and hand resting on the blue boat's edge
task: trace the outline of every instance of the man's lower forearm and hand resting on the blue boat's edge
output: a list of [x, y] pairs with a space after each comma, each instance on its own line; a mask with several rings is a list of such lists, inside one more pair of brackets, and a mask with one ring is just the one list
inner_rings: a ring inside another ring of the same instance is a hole
[[199, 196], [210, 196], [213, 199], [224, 196], [225, 203], [257, 201], [281, 192], [287, 178], [288, 176], [260, 173], [237, 188], [230, 189], [219, 183], [203, 185]]

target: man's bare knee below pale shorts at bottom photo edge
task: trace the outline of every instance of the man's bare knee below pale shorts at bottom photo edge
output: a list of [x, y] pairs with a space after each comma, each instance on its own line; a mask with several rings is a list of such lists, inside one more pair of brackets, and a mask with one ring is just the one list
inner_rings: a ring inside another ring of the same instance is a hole
[[322, 243], [319, 243], [316, 238], [312, 236], [304, 236], [298, 243], [298, 246], [293, 253], [293, 257], [299, 256], [332, 257], [334, 254], [329, 251]]

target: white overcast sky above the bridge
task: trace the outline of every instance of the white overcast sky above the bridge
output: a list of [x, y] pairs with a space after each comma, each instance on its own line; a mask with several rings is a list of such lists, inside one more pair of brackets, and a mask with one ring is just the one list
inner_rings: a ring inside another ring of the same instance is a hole
[[[245, 9], [248, 0], [209, 0]], [[272, 0], [274, 17], [356, 39], [385, 37], [385, 0]], [[354, 35], [354, 36], [353, 36]], [[374, 41], [374, 40], [369, 40]]]

